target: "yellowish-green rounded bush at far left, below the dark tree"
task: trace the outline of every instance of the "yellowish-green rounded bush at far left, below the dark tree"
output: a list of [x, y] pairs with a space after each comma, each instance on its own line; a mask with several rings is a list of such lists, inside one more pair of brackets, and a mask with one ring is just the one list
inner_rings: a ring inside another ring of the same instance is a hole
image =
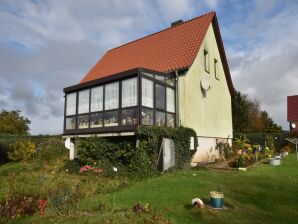
[[26, 161], [31, 159], [36, 149], [36, 144], [23, 140], [9, 145], [8, 159], [12, 161]]

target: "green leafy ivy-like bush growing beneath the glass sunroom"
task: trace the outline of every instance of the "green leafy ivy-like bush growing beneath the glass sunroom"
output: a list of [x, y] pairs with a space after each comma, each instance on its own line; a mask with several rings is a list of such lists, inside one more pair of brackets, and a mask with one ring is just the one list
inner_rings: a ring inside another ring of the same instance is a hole
[[[171, 138], [175, 142], [176, 168], [189, 166], [195, 150], [189, 150], [190, 137], [198, 145], [196, 132], [189, 128], [165, 128], [157, 126], [140, 126], [136, 130], [138, 145], [133, 141], [112, 142], [112, 139], [90, 137], [78, 144], [78, 159], [83, 164], [103, 169], [103, 175], [147, 177], [157, 172], [157, 160], [162, 138]], [[134, 139], [135, 141], [135, 139]]]

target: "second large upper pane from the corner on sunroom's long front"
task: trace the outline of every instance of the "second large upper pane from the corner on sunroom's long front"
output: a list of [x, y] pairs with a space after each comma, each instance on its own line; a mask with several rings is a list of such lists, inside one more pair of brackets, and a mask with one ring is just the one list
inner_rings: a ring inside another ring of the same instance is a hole
[[119, 107], [119, 82], [105, 85], [105, 110]]

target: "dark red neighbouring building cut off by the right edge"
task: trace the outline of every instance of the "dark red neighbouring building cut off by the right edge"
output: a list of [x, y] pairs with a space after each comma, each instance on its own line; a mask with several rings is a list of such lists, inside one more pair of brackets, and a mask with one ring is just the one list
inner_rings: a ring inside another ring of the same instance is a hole
[[298, 95], [288, 96], [288, 122], [291, 131], [298, 131]]

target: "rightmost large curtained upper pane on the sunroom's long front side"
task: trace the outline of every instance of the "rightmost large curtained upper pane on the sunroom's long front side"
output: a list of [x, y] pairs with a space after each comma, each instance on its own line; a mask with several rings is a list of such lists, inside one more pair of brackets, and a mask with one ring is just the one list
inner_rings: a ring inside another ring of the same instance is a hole
[[137, 105], [137, 78], [122, 81], [122, 107]]

